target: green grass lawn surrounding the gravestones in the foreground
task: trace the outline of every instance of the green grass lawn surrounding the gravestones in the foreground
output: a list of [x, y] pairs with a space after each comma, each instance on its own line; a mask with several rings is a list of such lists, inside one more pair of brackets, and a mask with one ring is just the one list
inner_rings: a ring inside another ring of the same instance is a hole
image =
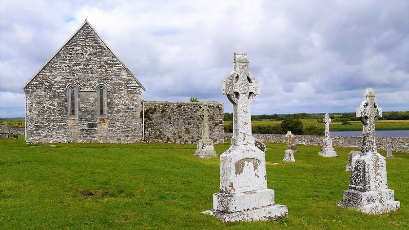
[[326, 158], [320, 146], [298, 145], [296, 162], [283, 162], [286, 145], [266, 143], [268, 187], [288, 218], [222, 224], [200, 213], [212, 209], [220, 159], [194, 157], [195, 145], [34, 147], [23, 140], [0, 139], [0, 229], [409, 229], [409, 153], [386, 159], [401, 208], [366, 215], [336, 206], [348, 189], [351, 148]]

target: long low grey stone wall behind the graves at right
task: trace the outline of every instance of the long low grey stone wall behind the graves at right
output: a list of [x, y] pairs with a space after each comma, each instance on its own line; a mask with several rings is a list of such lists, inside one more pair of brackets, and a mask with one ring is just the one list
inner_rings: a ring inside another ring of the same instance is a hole
[[[232, 138], [232, 133], [225, 133], [224, 137]], [[284, 134], [253, 134], [254, 138], [266, 142], [287, 143]], [[295, 143], [303, 145], [322, 145], [324, 136], [295, 135]], [[362, 145], [362, 136], [331, 136], [333, 146], [356, 147]], [[380, 150], [386, 150], [388, 137], [376, 137], [376, 146]], [[409, 137], [390, 137], [392, 150], [409, 153]]]

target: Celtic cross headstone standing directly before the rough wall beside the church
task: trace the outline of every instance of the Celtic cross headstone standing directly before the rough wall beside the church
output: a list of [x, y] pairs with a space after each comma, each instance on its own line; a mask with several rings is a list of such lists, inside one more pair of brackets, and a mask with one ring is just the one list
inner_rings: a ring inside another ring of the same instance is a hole
[[197, 115], [203, 119], [203, 123], [202, 138], [197, 142], [195, 156], [207, 159], [217, 157], [213, 140], [209, 137], [209, 117], [213, 115], [213, 112], [209, 110], [207, 102], [203, 102], [203, 107], [197, 112]]

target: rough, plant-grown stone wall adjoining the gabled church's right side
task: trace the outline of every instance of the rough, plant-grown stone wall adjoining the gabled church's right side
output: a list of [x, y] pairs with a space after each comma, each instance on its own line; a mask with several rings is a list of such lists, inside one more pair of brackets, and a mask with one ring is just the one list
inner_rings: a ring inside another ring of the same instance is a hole
[[[201, 102], [145, 101], [145, 140], [196, 144], [201, 138]], [[209, 102], [209, 135], [214, 144], [223, 144], [223, 103]]]

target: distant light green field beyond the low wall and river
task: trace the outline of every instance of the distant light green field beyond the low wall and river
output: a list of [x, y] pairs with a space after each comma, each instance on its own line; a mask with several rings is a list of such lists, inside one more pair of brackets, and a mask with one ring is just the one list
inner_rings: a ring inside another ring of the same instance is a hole
[[[318, 128], [325, 129], [324, 123], [318, 123], [316, 119], [301, 119], [304, 128], [317, 125]], [[360, 131], [362, 130], [361, 121], [350, 121], [351, 125], [342, 125], [341, 121], [331, 122], [330, 131]], [[230, 125], [231, 121], [225, 121], [225, 125]], [[252, 126], [279, 125], [280, 120], [261, 120], [252, 121]], [[376, 130], [409, 130], [409, 120], [379, 120], [375, 123]]]

